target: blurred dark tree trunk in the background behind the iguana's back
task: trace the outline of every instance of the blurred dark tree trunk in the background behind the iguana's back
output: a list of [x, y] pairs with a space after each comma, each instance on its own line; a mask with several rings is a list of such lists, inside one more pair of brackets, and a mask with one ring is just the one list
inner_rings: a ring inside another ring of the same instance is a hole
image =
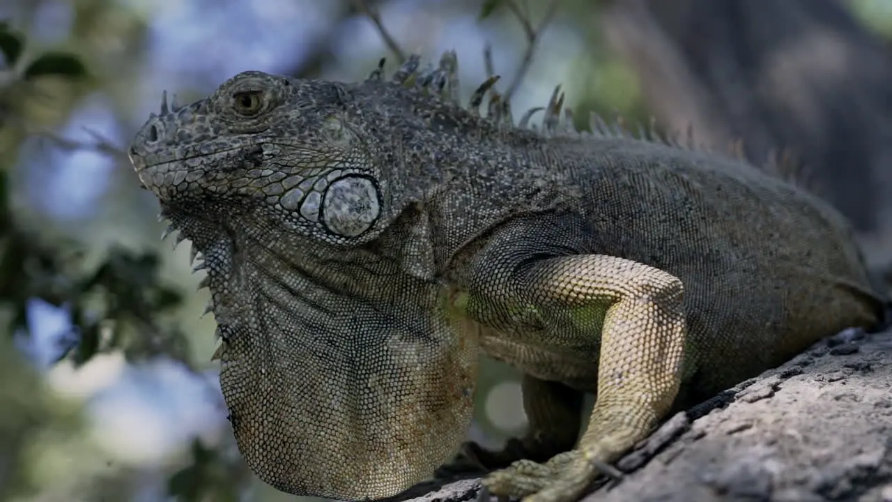
[[615, 0], [601, 29], [667, 129], [742, 138], [756, 163], [789, 148], [858, 230], [888, 232], [892, 58], [845, 4]]

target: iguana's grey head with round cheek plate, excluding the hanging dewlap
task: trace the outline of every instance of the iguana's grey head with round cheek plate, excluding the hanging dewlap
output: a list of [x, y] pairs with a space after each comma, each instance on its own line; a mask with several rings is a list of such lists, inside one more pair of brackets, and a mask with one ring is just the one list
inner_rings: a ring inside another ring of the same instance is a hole
[[226, 199], [295, 233], [357, 242], [381, 229], [384, 200], [376, 147], [351, 120], [346, 92], [246, 71], [192, 105], [162, 105], [131, 155], [145, 187], [169, 206]]

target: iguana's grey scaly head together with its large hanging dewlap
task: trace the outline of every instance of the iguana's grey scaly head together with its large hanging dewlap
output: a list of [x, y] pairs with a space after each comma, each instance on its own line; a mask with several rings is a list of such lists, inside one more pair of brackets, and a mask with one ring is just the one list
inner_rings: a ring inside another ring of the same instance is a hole
[[202, 256], [239, 448], [294, 494], [393, 495], [448, 459], [470, 419], [475, 338], [418, 272], [430, 243], [410, 211], [438, 173], [409, 162], [423, 155], [411, 127], [398, 142], [384, 127], [412, 99], [433, 98], [248, 71], [191, 105], [165, 100], [129, 149]]

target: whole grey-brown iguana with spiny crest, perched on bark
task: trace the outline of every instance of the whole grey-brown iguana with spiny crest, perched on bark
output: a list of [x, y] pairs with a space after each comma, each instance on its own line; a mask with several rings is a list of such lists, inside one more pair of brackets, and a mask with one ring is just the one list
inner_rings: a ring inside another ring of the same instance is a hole
[[341, 499], [421, 481], [464, 439], [485, 353], [524, 372], [529, 430], [480, 455], [504, 467], [484, 483], [574, 500], [673, 409], [880, 323], [852, 230], [818, 197], [654, 134], [576, 131], [557, 94], [539, 128], [498, 95], [482, 116], [495, 78], [463, 107], [457, 65], [246, 71], [165, 98], [129, 148], [200, 252], [262, 480]]

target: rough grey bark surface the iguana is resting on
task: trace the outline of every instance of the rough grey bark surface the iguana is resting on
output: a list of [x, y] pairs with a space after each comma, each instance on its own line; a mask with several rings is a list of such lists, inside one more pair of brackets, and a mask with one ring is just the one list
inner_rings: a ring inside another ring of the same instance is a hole
[[[585, 500], [892, 500], [890, 389], [892, 330], [844, 331], [674, 416]], [[417, 500], [479, 489], [458, 481]]]

